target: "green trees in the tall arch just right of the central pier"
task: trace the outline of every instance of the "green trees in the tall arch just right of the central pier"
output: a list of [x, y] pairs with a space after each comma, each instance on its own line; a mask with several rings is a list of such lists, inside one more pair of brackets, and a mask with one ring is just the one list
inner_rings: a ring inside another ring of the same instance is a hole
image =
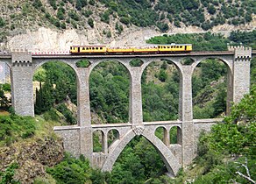
[[[149, 66], [150, 67], [150, 66]], [[168, 64], [168, 67], [171, 67]], [[162, 84], [142, 81], [142, 108], [144, 121], [177, 119], [179, 99], [179, 73], [177, 70], [167, 76], [160, 69], [159, 79]]]

